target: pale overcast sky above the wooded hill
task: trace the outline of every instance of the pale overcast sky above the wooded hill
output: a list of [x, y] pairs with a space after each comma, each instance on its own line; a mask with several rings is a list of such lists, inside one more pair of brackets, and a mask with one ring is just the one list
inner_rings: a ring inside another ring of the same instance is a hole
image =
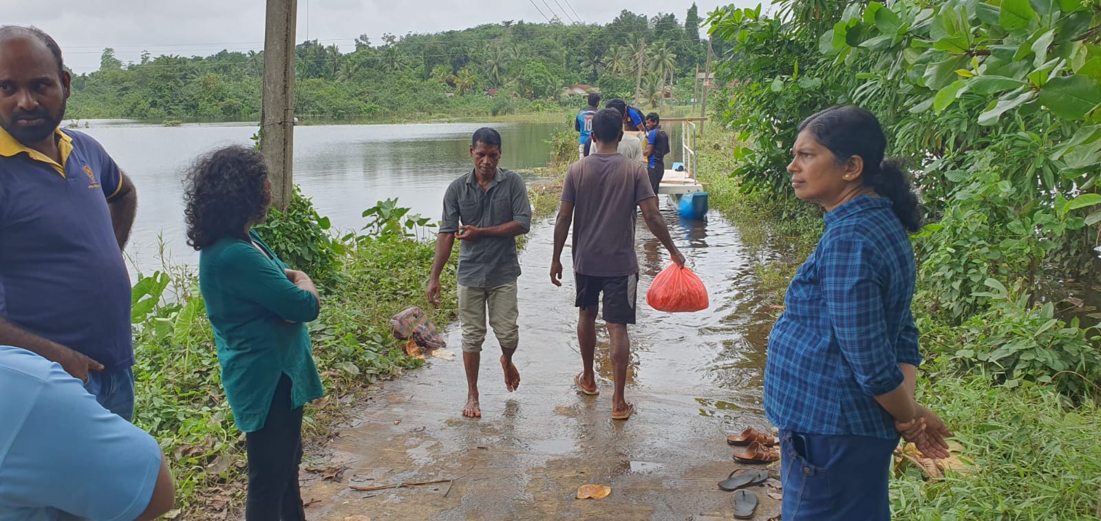
[[[732, 0], [754, 7], [770, 0]], [[99, 68], [103, 47], [123, 62], [137, 62], [148, 50], [154, 56], [207, 56], [224, 48], [260, 51], [264, 39], [264, 0], [39, 0], [3, 2], [3, 22], [36, 25], [61, 45], [66, 64], [77, 74]], [[699, 0], [700, 19], [731, 0]], [[298, 37], [337, 44], [342, 51], [367, 34], [372, 44], [383, 33], [437, 32], [504, 20], [564, 22], [580, 19], [606, 24], [620, 11], [653, 17], [672, 12], [684, 23], [693, 0], [298, 0]], [[308, 6], [308, 9], [307, 9]], [[570, 9], [573, 8], [573, 10]], [[308, 23], [307, 23], [308, 10]], [[542, 14], [541, 12], [542, 11]], [[563, 13], [565, 11], [565, 14]], [[576, 12], [576, 14], [575, 14]]]

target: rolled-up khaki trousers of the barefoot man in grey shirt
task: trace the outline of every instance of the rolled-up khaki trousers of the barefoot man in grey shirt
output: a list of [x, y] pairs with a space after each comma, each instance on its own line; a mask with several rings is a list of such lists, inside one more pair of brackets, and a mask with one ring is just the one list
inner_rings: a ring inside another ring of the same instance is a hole
[[481, 352], [486, 340], [486, 310], [489, 325], [502, 349], [520, 345], [520, 307], [516, 305], [516, 281], [495, 287], [470, 287], [459, 284], [459, 325], [462, 350]]

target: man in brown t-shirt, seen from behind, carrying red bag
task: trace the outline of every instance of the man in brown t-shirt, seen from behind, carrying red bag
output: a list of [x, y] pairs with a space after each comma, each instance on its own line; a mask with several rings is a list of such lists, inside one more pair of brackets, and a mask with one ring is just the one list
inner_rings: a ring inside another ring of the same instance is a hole
[[650, 186], [646, 169], [615, 152], [623, 135], [623, 116], [615, 109], [597, 112], [592, 119], [592, 142], [597, 151], [571, 164], [562, 191], [562, 207], [554, 230], [554, 258], [550, 282], [562, 285], [562, 249], [574, 225], [574, 278], [577, 338], [581, 347], [582, 371], [574, 383], [585, 394], [597, 394], [592, 358], [597, 346], [597, 306], [603, 293], [603, 319], [611, 338], [612, 419], [626, 420], [634, 404], [623, 397], [630, 339], [626, 325], [634, 324], [639, 285], [639, 259], [634, 253], [634, 209], [642, 208], [643, 219], [673, 261], [684, 265], [685, 258], [673, 245], [665, 219], [657, 211], [657, 197]]

